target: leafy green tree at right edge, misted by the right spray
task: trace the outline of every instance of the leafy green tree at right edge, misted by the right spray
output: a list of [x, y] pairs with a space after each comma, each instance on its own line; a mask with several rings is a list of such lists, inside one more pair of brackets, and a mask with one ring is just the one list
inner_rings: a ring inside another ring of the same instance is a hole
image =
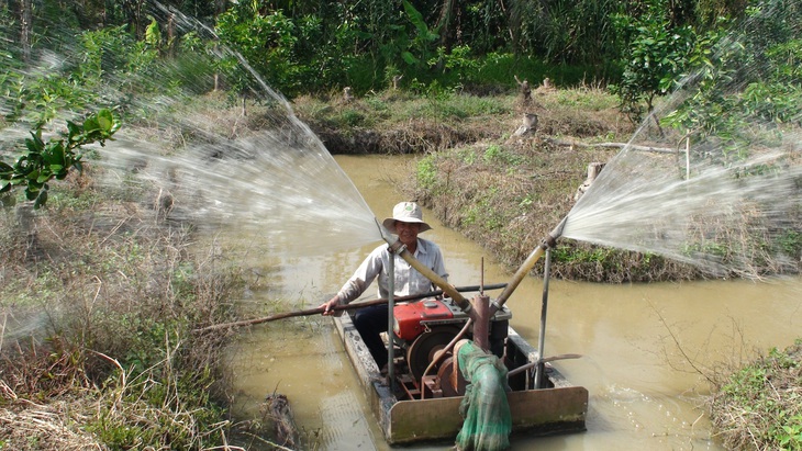
[[713, 139], [721, 153], [701, 157], [726, 165], [749, 149], [771, 146], [786, 124], [802, 114], [802, 86], [794, 61], [802, 55], [802, 11], [789, 8], [782, 21], [761, 8], [737, 27], [708, 32], [690, 58], [683, 90], [689, 95], [662, 123], [697, 143]]

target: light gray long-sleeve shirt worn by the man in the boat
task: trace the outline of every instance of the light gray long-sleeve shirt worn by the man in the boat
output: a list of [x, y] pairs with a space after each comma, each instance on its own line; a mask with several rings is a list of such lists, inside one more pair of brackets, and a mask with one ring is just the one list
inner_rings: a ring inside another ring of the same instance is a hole
[[[349, 302], [359, 297], [365, 290], [378, 277], [379, 281], [379, 297], [387, 298], [389, 295], [389, 281], [388, 268], [390, 264], [391, 253], [388, 250], [387, 245], [381, 245], [365, 258], [365, 261], [359, 264], [354, 275], [345, 282], [345, 285], [337, 293], [339, 302], [342, 304], [348, 304]], [[436, 287], [432, 284], [432, 281], [426, 279], [423, 274], [417, 272], [416, 269], [412, 268], [406, 260], [399, 256], [392, 256], [396, 260], [396, 284], [394, 294], [396, 296], [405, 296], [410, 294], [426, 293]], [[421, 263], [428, 267], [437, 275], [445, 280], [448, 280], [448, 273], [446, 272], [445, 263], [443, 261], [443, 253], [439, 247], [434, 243], [417, 238], [417, 249], [415, 249], [414, 256]]]

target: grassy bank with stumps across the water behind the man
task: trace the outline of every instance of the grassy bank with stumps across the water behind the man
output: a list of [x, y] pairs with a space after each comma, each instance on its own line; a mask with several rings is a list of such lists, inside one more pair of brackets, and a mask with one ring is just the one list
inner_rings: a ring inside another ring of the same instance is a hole
[[[541, 87], [528, 101], [516, 92], [411, 98], [389, 91], [348, 102], [301, 98], [296, 108], [332, 153], [421, 155], [402, 189], [511, 269], [570, 211], [588, 165], [606, 162], [620, 150], [593, 144], [625, 143], [635, 131], [617, 98], [598, 87]], [[525, 113], [537, 114], [537, 129], [514, 136]], [[567, 239], [553, 258], [553, 274], [571, 280], [700, 277], [659, 256]]]

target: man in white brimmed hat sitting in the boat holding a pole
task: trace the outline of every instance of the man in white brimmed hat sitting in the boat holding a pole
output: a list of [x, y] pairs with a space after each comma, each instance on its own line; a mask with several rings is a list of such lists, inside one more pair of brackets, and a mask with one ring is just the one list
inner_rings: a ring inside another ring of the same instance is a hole
[[[382, 225], [391, 234], [398, 235], [399, 240], [406, 246], [406, 250], [415, 259], [431, 268], [444, 280], [448, 279], [439, 247], [430, 240], [417, 237], [417, 234], [430, 230], [432, 227], [423, 221], [423, 213], [416, 203], [401, 202], [397, 204], [392, 210], [392, 217], [386, 218]], [[321, 304], [321, 307], [324, 308], [323, 315], [332, 315], [335, 305], [348, 304], [359, 297], [377, 277], [379, 278], [379, 297], [387, 298], [389, 296], [390, 279], [388, 266], [391, 257], [394, 258], [396, 264], [393, 285], [396, 296], [415, 295], [435, 290], [432, 281], [417, 272], [401, 257], [391, 256], [387, 245], [381, 245], [368, 255], [354, 272], [354, 275], [345, 282], [334, 297]], [[388, 305], [382, 304], [360, 308], [354, 316], [354, 326], [361, 335], [365, 345], [370, 350], [370, 354], [376, 360], [377, 367], [382, 372], [387, 371], [388, 354], [380, 334], [387, 331], [388, 313]]]

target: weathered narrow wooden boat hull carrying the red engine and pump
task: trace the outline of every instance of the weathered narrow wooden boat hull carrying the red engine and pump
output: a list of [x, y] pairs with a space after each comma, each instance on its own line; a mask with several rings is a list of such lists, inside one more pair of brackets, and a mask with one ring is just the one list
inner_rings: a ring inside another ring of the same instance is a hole
[[[420, 441], [454, 440], [463, 418], [459, 404], [463, 396], [439, 393], [436, 383], [410, 381], [410, 374], [399, 371], [393, 387], [383, 377], [355, 329], [349, 314], [336, 317], [337, 332], [366, 391], [368, 403], [386, 440], [391, 444]], [[509, 370], [538, 361], [537, 350], [509, 326], [504, 340], [503, 360]], [[403, 359], [403, 358], [401, 358]], [[398, 362], [398, 360], [397, 360]], [[588, 413], [588, 391], [571, 385], [554, 367], [544, 363], [545, 377], [534, 388], [534, 373], [526, 370], [509, 379], [508, 402], [512, 414], [513, 433], [555, 435], [584, 430]], [[420, 385], [420, 386], [419, 386]], [[394, 390], [393, 390], [394, 388]], [[421, 398], [423, 392], [423, 399]]]

